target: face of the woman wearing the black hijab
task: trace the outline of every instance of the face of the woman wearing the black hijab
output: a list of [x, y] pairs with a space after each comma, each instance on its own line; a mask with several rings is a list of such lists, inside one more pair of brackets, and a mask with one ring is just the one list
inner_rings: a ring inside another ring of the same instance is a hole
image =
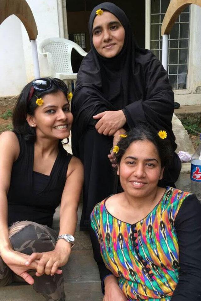
[[92, 29], [92, 40], [96, 51], [107, 58], [116, 56], [123, 47], [125, 30], [120, 21], [109, 12], [96, 16]]

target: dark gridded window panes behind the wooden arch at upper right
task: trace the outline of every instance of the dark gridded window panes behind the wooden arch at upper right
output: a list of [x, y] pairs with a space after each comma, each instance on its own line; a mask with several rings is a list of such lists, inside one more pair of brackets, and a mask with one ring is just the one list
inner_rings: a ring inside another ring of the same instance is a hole
[[[161, 23], [170, 2], [171, 0], [151, 0], [151, 49], [159, 60], [162, 59]], [[168, 39], [168, 74], [173, 89], [186, 89], [189, 12], [189, 5], [187, 5], [177, 17]]]

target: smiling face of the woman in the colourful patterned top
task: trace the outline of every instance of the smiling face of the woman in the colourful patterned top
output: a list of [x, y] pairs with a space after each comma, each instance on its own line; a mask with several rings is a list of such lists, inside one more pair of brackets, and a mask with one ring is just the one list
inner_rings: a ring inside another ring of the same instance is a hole
[[125, 151], [117, 174], [125, 193], [142, 198], [156, 191], [163, 170], [155, 145], [148, 140], [138, 140], [132, 142]]

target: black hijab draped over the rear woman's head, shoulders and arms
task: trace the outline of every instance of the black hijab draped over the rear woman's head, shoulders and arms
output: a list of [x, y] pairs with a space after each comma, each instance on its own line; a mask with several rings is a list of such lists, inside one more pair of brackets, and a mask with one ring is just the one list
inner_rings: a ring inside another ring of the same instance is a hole
[[[102, 57], [92, 42], [93, 22], [99, 8], [114, 14], [125, 30], [123, 48], [112, 58]], [[139, 49], [122, 9], [109, 2], [97, 5], [90, 14], [89, 32], [91, 50], [80, 66], [72, 99], [72, 147], [93, 124], [93, 115], [119, 109], [123, 109], [130, 128], [138, 122], [148, 122], [156, 130], [166, 130], [174, 142], [174, 96], [167, 73], [151, 51]]]

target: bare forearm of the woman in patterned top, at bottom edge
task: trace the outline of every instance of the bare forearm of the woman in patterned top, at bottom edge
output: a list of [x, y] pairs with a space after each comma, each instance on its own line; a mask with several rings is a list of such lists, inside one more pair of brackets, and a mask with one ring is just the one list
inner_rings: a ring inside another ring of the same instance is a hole
[[118, 285], [117, 277], [109, 275], [104, 280], [105, 296], [103, 301], [128, 301]]

